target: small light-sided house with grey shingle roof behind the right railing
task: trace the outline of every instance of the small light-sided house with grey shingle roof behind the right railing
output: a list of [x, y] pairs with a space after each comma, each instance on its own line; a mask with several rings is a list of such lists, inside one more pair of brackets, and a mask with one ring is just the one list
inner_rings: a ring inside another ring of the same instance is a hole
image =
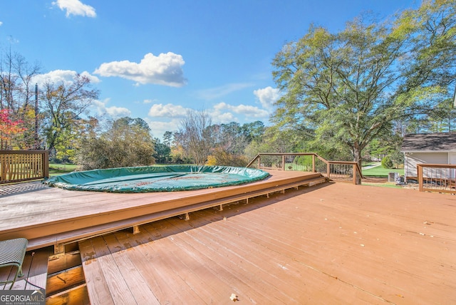
[[[405, 154], [405, 180], [415, 180], [418, 177], [417, 164], [456, 164], [456, 133], [405, 135], [400, 151]], [[455, 178], [454, 171], [445, 175]]]

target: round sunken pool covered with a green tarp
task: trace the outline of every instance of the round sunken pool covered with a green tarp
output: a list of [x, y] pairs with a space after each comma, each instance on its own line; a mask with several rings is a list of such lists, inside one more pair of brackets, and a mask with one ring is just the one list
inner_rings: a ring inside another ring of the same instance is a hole
[[268, 176], [263, 170], [246, 167], [170, 165], [71, 172], [45, 183], [66, 190], [170, 192], [241, 185]]

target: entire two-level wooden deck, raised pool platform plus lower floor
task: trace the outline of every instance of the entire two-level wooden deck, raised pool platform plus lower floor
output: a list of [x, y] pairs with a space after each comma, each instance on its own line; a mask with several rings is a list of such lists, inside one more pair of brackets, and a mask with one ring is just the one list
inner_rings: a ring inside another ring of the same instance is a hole
[[[278, 193], [318, 177], [271, 174], [174, 193], [0, 186], [0, 239], [27, 237], [32, 249], [80, 239], [86, 283], [74, 289], [93, 305], [232, 304], [232, 294], [241, 304], [456, 304], [454, 196], [346, 183]], [[189, 220], [164, 219], [183, 211]], [[132, 224], [140, 232], [122, 229]], [[64, 265], [49, 267], [48, 291], [82, 274]]]

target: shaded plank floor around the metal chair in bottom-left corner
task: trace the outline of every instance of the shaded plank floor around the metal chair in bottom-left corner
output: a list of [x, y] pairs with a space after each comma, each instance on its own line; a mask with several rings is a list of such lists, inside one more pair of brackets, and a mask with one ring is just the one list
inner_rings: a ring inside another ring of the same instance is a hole
[[[36, 290], [46, 289], [48, 276], [48, 258], [51, 249], [42, 248], [36, 251], [26, 252], [22, 264], [24, 276], [18, 277], [12, 290]], [[14, 279], [16, 267], [4, 267], [0, 269], [0, 280]], [[10, 289], [11, 284], [0, 284], [0, 289]]]

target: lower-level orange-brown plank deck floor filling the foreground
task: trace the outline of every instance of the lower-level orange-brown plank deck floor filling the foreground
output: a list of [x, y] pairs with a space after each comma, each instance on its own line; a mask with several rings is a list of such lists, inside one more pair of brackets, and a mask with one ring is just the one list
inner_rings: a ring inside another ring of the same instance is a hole
[[456, 304], [456, 198], [326, 184], [80, 242], [91, 304]]

